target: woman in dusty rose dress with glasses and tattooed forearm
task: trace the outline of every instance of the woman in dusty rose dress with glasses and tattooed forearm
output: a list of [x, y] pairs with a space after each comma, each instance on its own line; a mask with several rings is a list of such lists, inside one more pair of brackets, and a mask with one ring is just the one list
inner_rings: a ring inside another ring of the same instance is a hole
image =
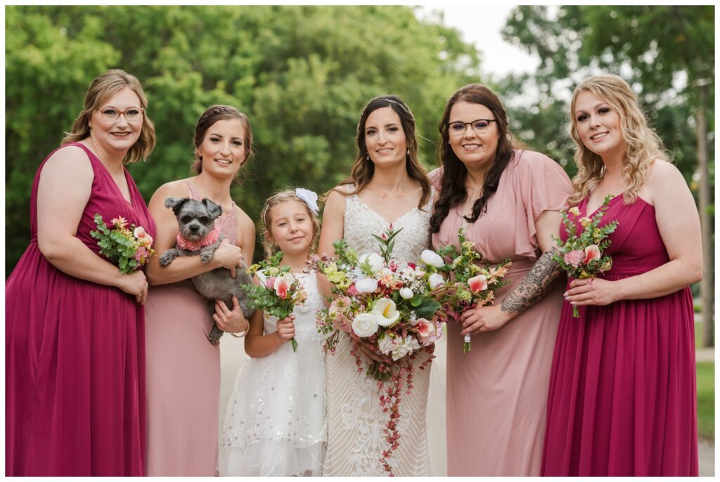
[[[457, 245], [464, 227], [485, 260], [513, 262], [495, 304], [448, 326], [448, 476], [538, 476], [562, 308], [551, 235], [572, 186], [552, 159], [513, 150], [505, 109], [484, 86], [451, 97], [440, 131], [433, 247]], [[467, 333], [472, 350], [463, 353]]]

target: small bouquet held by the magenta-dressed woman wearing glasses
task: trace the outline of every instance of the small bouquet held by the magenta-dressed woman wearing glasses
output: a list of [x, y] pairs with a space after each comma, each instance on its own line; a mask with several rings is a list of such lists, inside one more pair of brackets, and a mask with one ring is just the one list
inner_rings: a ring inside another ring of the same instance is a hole
[[112, 229], [95, 214], [96, 231], [90, 235], [98, 240], [100, 254], [120, 268], [120, 273], [127, 274], [148, 263], [150, 256], [155, 254], [153, 237], [142, 226], [131, 224], [127, 227], [127, 219], [118, 216], [112, 221]]

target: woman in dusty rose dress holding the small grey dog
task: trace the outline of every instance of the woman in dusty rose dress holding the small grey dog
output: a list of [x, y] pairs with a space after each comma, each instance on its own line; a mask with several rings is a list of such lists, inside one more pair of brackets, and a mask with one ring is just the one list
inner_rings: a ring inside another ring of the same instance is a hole
[[174, 247], [178, 224], [165, 199], [209, 198], [222, 206], [217, 220], [223, 240], [210, 263], [199, 256], [148, 266], [146, 352], [148, 360], [148, 476], [214, 476], [220, 417], [220, 346], [207, 340], [212, 321], [228, 332], [244, 332], [247, 320], [235, 305], [215, 304], [195, 290], [192, 276], [214, 268], [249, 266], [255, 225], [230, 197], [230, 185], [252, 149], [250, 121], [232, 106], [212, 106], [194, 136], [197, 176], [167, 183], [150, 199], [158, 224], [156, 251]]

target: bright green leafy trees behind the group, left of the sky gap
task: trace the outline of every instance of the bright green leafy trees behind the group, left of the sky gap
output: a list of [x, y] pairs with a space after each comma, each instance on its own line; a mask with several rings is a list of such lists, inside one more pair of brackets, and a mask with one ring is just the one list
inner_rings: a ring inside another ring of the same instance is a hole
[[257, 219], [278, 188], [324, 192], [348, 174], [373, 96], [408, 102], [430, 140], [421, 159], [433, 167], [445, 100], [477, 81], [479, 67], [459, 32], [407, 6], [8, 6], [6, 274], [27, 246], [37, 166], [108, 68], [135, 74], [148, 94], [158, 145], [129, 168], [146, 200], [190, 174], [207, 106], [248, 114], [257, 155], [233, 198]]

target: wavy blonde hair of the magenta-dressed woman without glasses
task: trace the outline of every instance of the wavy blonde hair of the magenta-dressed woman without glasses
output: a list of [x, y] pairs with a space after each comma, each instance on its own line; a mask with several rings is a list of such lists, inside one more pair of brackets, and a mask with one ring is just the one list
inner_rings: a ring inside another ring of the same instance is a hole
[[590, 92], [598, 99], [607, 102], [620, 116], [620, 129], [626, 143], [625, 163], [622, 177], [628, 188], [623, 193], [625, 204], [637, 199], [637, 192], [647, 176], [647, 168], [654, 160], [670, 161], [670, 155], [662, 145], [660, 136], [649, 127], [647, 118], [640, 109], [638, 100], [626, 81], [618, 76], [604, 74], [590, 76], [580, 82], [572, 93], [570, 101], [570, 137], [577, 145], [575, 164], [577, 175], [572, 178], [575, 192], [570, 196], [570, 204], [578, 204], [590, 191], [602, 181], [605, 164], [600, 155], [591, 152], [577, 134], [575, 104], [577, 96]]

